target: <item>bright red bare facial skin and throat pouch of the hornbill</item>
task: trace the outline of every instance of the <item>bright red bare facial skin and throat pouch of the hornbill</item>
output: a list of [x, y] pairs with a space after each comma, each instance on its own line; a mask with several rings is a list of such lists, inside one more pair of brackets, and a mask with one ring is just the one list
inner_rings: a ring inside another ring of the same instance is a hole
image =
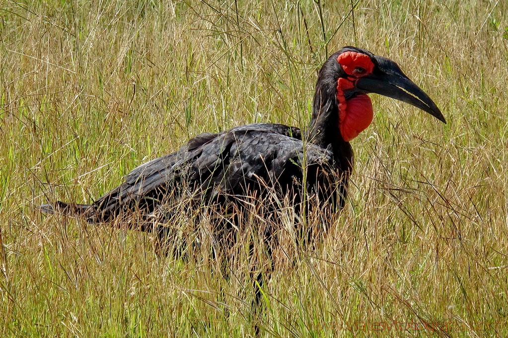
[[374, 64], [368, 55], [345, 52], [337, 57], [347, 79], [337, 80], [337, 100], [339, 101], [339, 129], [344, 141], [357, 137], [372, 122], [374, 112], [372, 102], [365, 94], [357, 95], [346, 101], [344, 90], [355, 87], [355, 82], [372, 72]]

